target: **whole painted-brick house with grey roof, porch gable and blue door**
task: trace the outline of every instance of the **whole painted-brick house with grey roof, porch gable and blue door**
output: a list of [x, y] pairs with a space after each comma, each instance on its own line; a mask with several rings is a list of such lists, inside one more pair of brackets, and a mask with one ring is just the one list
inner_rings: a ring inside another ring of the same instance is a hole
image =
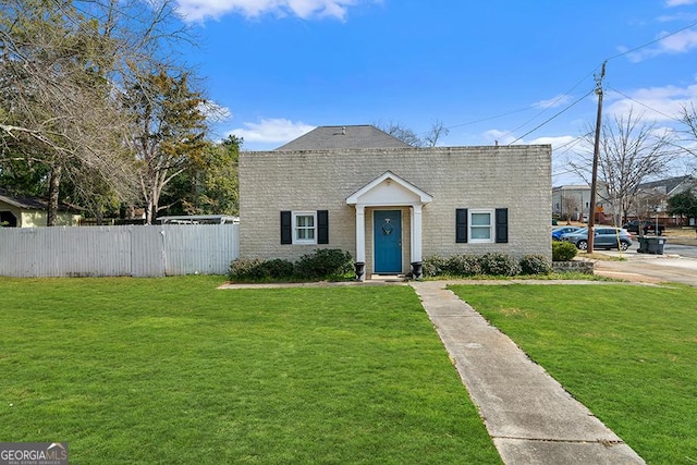
[[414, 148], [372, 126], [321, 126], [240, 156], [241, 258], [353, 254], [356, 278], [419, 278], [431, 256], [551, 258], [551, 147]]

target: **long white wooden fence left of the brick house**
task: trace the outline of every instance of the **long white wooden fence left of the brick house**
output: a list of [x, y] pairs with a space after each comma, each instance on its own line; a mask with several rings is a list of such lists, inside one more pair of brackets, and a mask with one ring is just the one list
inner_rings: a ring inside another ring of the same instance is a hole
[[0, 276], [225, 274], [237, 224], [0, 228]]

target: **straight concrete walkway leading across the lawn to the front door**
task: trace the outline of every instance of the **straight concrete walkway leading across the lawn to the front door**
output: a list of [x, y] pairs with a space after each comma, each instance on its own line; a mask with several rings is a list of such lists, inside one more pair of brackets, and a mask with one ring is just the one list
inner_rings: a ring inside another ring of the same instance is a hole
[[409, 283], [505, 464], [645, 463], [445, 284]]

